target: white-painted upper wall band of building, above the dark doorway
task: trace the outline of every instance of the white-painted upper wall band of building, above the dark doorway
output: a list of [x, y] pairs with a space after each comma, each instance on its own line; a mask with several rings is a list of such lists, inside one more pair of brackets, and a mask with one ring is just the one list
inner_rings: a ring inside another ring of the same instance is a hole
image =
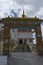
[[33, 38], [32, 33], [30, 32], [14, 32], [15, 38]]

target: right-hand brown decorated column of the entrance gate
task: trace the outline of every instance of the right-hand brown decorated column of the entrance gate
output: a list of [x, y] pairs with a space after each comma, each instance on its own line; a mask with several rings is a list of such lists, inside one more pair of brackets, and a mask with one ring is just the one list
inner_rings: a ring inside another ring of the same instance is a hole
[[43, 55], [43, 44], [42, 44], [42, 35], [41, 35], [41, 26], [40, 24], [36, 27], [36, 43], [37, 43], [37, 53], [38, 55]]

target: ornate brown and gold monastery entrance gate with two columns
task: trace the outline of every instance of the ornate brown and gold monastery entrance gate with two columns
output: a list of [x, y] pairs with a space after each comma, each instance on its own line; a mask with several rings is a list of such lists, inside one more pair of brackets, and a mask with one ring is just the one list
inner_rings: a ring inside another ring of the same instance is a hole
[[0, 23], [4, 24], [4, 45], [3, 54], [10, 55], [9, 44], [10, 44], [10, 29], [11, 28], [30, 28], [35, 29], [36, 33], [36, 45], [38, 55], [43, 55], [43, 43], [41, 35], [41, 23], [43, 20], [38, 18], [3, 18]]

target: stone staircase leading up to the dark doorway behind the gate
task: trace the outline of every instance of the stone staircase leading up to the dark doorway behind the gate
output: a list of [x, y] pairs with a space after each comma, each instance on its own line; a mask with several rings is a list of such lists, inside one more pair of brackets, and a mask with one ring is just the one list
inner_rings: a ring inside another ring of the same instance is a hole
[[31, 49], [29, 48], [29, 46], [22, 43], [17, 45], [14, 52], [31, 52]]

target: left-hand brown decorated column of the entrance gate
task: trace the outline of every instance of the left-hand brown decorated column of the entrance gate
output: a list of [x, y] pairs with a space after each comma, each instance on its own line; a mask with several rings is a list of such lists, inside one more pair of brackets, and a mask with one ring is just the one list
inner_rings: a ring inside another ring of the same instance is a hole
[[3, 55], [9, 56], [9, 54], [10, 54], [9, 44], [10, 44], [10, 28], [8, 25], [5, 25], [4, 26]]

